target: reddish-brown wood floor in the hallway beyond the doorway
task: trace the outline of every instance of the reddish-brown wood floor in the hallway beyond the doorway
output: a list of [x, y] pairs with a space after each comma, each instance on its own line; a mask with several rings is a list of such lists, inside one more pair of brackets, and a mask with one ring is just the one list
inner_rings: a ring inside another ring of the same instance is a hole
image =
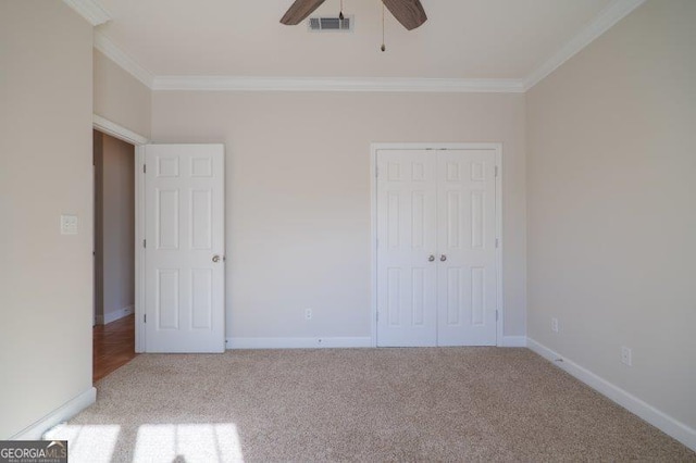
[[92, 381], [97, 383], [135, 359], [135, 315], [92, 329]]

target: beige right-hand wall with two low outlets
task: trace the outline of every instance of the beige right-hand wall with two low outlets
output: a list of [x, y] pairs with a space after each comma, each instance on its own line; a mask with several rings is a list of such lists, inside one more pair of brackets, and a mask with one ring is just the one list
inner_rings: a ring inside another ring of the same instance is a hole
[[649, 1], [527, 93], [529, 335], [692, 428], [695, 17]]

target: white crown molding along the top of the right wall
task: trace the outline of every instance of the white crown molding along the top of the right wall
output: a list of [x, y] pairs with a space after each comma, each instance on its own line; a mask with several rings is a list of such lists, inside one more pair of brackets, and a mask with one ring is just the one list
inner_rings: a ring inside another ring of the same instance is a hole
[[609, 30], [614, 24], [623, 20], [645, 1], [646, 0], [614, 0], [609, 3], [586, 28], [573, 37], [566, 46], [558, 50], [556, 54], [524, 79], [524, 91], [542, 82], [560, 67], [561, 64], [587, 47], [597, 37]]

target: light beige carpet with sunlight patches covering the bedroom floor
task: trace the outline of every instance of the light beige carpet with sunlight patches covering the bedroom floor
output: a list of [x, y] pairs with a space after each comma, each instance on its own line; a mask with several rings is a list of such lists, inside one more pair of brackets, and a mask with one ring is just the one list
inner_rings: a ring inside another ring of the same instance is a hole
[[97, 389], [72, 462], [696, 462], [526, 349], [146, 354]]

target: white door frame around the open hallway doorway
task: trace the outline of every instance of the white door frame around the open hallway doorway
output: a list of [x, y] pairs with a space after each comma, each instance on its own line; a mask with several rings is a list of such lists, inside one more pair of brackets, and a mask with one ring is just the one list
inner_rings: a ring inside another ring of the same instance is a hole
[[92, 127], [135, 146], [135, 351], [145, 352], [145, 175], [141, 166], [144, 146], [150, 140], [97, 114], [92, 114]]

